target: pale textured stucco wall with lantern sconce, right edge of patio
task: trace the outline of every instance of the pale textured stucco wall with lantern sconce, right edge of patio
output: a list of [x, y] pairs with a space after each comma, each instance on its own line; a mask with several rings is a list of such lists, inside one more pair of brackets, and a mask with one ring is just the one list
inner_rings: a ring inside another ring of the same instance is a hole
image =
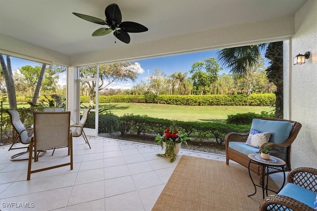
[[307, 1], [295, 15], [291, 56], [306, 51], [311, 57], [305, 64], [290, 65], [290, 119], [303, 125], [292, 144], [292, 168], [317, 168], [317, 0]]

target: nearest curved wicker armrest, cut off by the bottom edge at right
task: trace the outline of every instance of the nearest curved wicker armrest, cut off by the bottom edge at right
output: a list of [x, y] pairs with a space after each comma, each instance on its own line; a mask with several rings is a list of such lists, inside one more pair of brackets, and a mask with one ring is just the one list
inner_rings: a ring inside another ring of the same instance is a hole
[[[270, 207], [267, 208], [267, 206]], [[314, 208], [311, 208], [308, 205], [297, 201], [296, 199], [278, 194], [267, 196], [260, 205], [260, 211], [286, 210], [282, 207], [292, 209], [293, 211], [316, 211]]]

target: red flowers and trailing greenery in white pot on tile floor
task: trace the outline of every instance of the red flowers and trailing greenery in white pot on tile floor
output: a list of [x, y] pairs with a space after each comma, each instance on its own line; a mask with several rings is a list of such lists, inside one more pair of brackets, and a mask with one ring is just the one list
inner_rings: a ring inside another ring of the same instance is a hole
[[178, 130], [172, 132], [169, 128], [164, 130], [162, 136], [158, 135], [155, 140], [165, 150], [164, 154], [157, 154], [160, 157], [170, 157], [170, 162], [173, 163], [176, 160], [176, 156], [180, 151], [181, 143], [185, 143], [187, 146], [187, 133], [180, 133]]

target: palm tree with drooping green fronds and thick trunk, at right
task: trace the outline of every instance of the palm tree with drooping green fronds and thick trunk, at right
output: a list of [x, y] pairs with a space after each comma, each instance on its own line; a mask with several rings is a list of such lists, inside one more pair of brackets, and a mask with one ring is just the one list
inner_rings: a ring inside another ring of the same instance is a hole
[[270, 42], [248, 46], [225, 48], [218, 51], [222, 64], [233, 74], [245, 76], [251, 67], [257, 65], [261, 51], [266, 48], [265, 58], [270, 64], [265, 72], [269, 82], [276, 85], [275, 117], [283, 118], [283, 42]]

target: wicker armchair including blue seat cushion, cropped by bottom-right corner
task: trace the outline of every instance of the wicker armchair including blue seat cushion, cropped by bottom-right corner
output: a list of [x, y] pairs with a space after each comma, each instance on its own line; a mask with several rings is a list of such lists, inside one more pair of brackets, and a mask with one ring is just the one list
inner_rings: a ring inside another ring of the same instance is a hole
[[293, 169], [287, 182], [279, 193], [263, 200], [260, 211], [316, 211], [313, 207], [317, 200], [317, 169]]

